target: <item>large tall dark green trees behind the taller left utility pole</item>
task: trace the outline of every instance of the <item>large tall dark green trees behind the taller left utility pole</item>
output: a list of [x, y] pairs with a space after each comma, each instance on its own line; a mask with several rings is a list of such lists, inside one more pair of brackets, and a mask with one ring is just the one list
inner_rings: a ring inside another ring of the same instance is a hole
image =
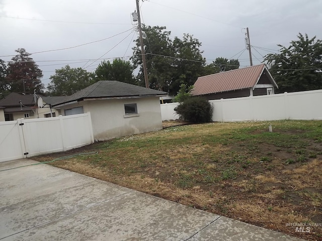
[[[205, 59], [201, 43], [192, 35], [172, 40], [166, 27], [143, 26], [142, 31], [150, 88], [176, 94], [181, 84], [192, 85], [202, 75]], [[139, 39], [131, 59], [135, 67], [140, 66], [138, 79], [144, 83]]]

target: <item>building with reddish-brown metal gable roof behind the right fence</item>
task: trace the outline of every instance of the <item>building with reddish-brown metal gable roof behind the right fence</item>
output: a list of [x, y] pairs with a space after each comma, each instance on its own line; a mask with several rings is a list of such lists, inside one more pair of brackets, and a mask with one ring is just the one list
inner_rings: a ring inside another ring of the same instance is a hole
[[265, 64], [201, 76], [192, 95], [206, 99], [226, 99], [274, 94], [278, 88]]

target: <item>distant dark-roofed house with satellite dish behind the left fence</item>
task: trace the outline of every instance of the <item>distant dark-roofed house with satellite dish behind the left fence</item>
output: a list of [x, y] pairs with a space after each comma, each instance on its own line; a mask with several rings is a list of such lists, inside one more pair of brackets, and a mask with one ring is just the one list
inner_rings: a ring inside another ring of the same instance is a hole
[[38, 95], [33, 94], [10, 93], [0, 100], [0, 122], [16, 121], [19, 118], [50, 117], [51, 111], [53, 116], [59, 115], [59, 111], [51, 109], [50, 104], [65, 97], [42, 97], [43, 108], [38, 108], [38, 98]]

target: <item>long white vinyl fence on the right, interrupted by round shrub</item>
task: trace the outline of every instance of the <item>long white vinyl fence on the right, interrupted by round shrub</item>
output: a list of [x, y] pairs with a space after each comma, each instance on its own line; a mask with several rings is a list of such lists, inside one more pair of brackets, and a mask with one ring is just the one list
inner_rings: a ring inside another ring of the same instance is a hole
[[[212, 121], [274, 121], [280, 119], [322, 119], [322, 90], [249, 96], [209, 101]], [[178, 103], [161, 104], [162, 120], [178, 119]]]

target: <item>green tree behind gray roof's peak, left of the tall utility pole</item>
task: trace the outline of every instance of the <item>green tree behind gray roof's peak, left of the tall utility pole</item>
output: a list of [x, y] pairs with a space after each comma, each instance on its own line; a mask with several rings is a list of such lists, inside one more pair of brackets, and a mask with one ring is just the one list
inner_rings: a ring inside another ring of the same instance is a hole
[[130, 61], [124, 61], [116, 58], [111, 63], [103, 61], [95, 70], [95, 79], [99, 80], [117, 80], [129, 84], [136, 84], [133, 76], [133, 66]]

